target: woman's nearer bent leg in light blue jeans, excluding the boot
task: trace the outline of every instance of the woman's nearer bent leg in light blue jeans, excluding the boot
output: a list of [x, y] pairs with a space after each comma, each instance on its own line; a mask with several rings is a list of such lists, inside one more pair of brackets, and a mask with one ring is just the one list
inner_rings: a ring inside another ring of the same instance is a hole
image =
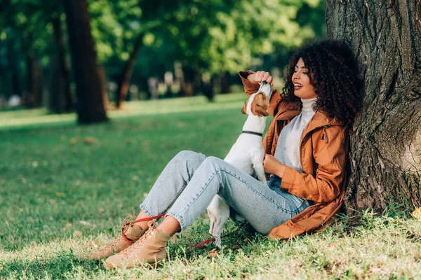
[[[309, 207], [307, 200], [281, 190], [271, 190], [229, 163], [209, 157], [168, 210], [166, 219], [172, 216], [184, 230], [208, 207], [217, 193], [255, 230], [264, 234]], [[168, 234], [175, 230], [160, 228], [161, 225], [158, 229]]]

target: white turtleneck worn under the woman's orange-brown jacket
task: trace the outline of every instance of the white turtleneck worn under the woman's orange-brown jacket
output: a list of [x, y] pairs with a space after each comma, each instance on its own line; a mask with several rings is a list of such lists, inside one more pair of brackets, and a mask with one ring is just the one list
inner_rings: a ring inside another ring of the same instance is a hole
[[278, 144], [274, 157], [277, 158], [283, 165], [292, 167], [293, 169], [302, 172], [300, 160], [300, 139], [302, 131], [309, 123], [310, 119], [316, 113], [313, 110], [313, 105], [317, 97], [312, 99], [301, 99], [302, 111], [298, 116], [288, 123], [281, 134], [279, 135]]

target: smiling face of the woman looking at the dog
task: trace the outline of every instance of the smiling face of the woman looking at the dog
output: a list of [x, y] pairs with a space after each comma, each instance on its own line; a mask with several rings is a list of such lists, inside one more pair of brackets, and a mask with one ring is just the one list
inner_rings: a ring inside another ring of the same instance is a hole
[[293, 73], [294, 94], [301, 99], [317, 97], [314, 87], [310, 85], [309, 70], [305, 68], [304, 61], [300, 58], [295, 65]]

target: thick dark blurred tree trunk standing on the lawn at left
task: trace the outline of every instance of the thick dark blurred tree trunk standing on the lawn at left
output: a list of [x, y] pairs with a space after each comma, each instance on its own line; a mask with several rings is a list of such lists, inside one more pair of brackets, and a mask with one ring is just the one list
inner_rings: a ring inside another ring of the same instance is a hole
[[78, 123], [107, 121], [86, 0], [65, 0]]

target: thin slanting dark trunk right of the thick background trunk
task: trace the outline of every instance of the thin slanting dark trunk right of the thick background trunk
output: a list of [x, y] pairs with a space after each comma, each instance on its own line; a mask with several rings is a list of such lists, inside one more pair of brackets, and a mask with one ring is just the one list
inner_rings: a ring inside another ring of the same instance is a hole
[[119, 85], [116, 91], [116, 107], [120, 108], [123, 102], [126, 101], [128, 86], [130, 85], [130, 79], [132, 76], [133, 66], [136, 62], [136, 57], [138, 57], [140, 46], [142, 45], [143, 34], [140, 34], [138, 38], [136, 38], [135, 43], [133, 44], [133, 49], [131, 50], [130, 57], [126, 64], [124, 65], [124, 69], [121, 72], [121, 76], [119, 78]]

